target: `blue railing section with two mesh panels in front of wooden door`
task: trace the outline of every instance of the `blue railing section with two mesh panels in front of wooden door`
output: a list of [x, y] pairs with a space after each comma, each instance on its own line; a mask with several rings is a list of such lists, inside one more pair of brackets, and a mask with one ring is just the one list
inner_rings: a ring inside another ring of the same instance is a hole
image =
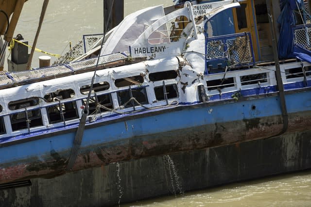
[[207, 38], [206, 47], [206, 74], [224, 72], [226, 66], [236, 68], [255, 64], [249, 32]]

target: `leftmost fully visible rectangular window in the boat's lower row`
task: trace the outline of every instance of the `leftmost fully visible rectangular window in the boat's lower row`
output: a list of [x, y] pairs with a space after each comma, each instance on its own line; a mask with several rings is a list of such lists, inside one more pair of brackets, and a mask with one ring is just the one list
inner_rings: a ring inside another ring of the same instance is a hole
[[13, 131], [43, 126], [40, 109], [21, 111], [10, 115]]

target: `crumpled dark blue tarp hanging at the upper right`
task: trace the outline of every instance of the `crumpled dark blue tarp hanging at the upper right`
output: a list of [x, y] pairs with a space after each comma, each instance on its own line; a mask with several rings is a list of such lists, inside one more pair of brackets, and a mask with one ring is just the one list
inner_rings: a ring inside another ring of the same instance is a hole
[[303, 0], [280, 0], [281, 14], [277, 19], [280, 24], [278, 56], [281, 59], [298, 58], [311, 63], [311, 51], [294, 45], [292, 27], [296, 25], [294, 10], [302, 9]]

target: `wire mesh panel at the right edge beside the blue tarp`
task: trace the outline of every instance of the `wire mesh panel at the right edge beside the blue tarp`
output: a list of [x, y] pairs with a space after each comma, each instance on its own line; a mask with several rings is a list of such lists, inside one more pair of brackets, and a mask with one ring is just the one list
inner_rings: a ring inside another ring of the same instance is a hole
[[294, 44], [311, 50], [311, 24], [294, 28]]

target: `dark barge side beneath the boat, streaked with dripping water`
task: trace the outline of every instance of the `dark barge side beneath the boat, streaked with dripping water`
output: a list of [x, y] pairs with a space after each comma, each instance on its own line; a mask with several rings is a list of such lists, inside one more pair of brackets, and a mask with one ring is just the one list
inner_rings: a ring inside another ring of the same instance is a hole
[[178, 194], [310, 169], [310, 149], [311, 131], [307, 131], [132, 159], [52, 179], [35, 178], [31, 179], [31, 186], [0, 190], [0, 207], [97, 207], [116, 205], [119, 198], [124, 203]]

